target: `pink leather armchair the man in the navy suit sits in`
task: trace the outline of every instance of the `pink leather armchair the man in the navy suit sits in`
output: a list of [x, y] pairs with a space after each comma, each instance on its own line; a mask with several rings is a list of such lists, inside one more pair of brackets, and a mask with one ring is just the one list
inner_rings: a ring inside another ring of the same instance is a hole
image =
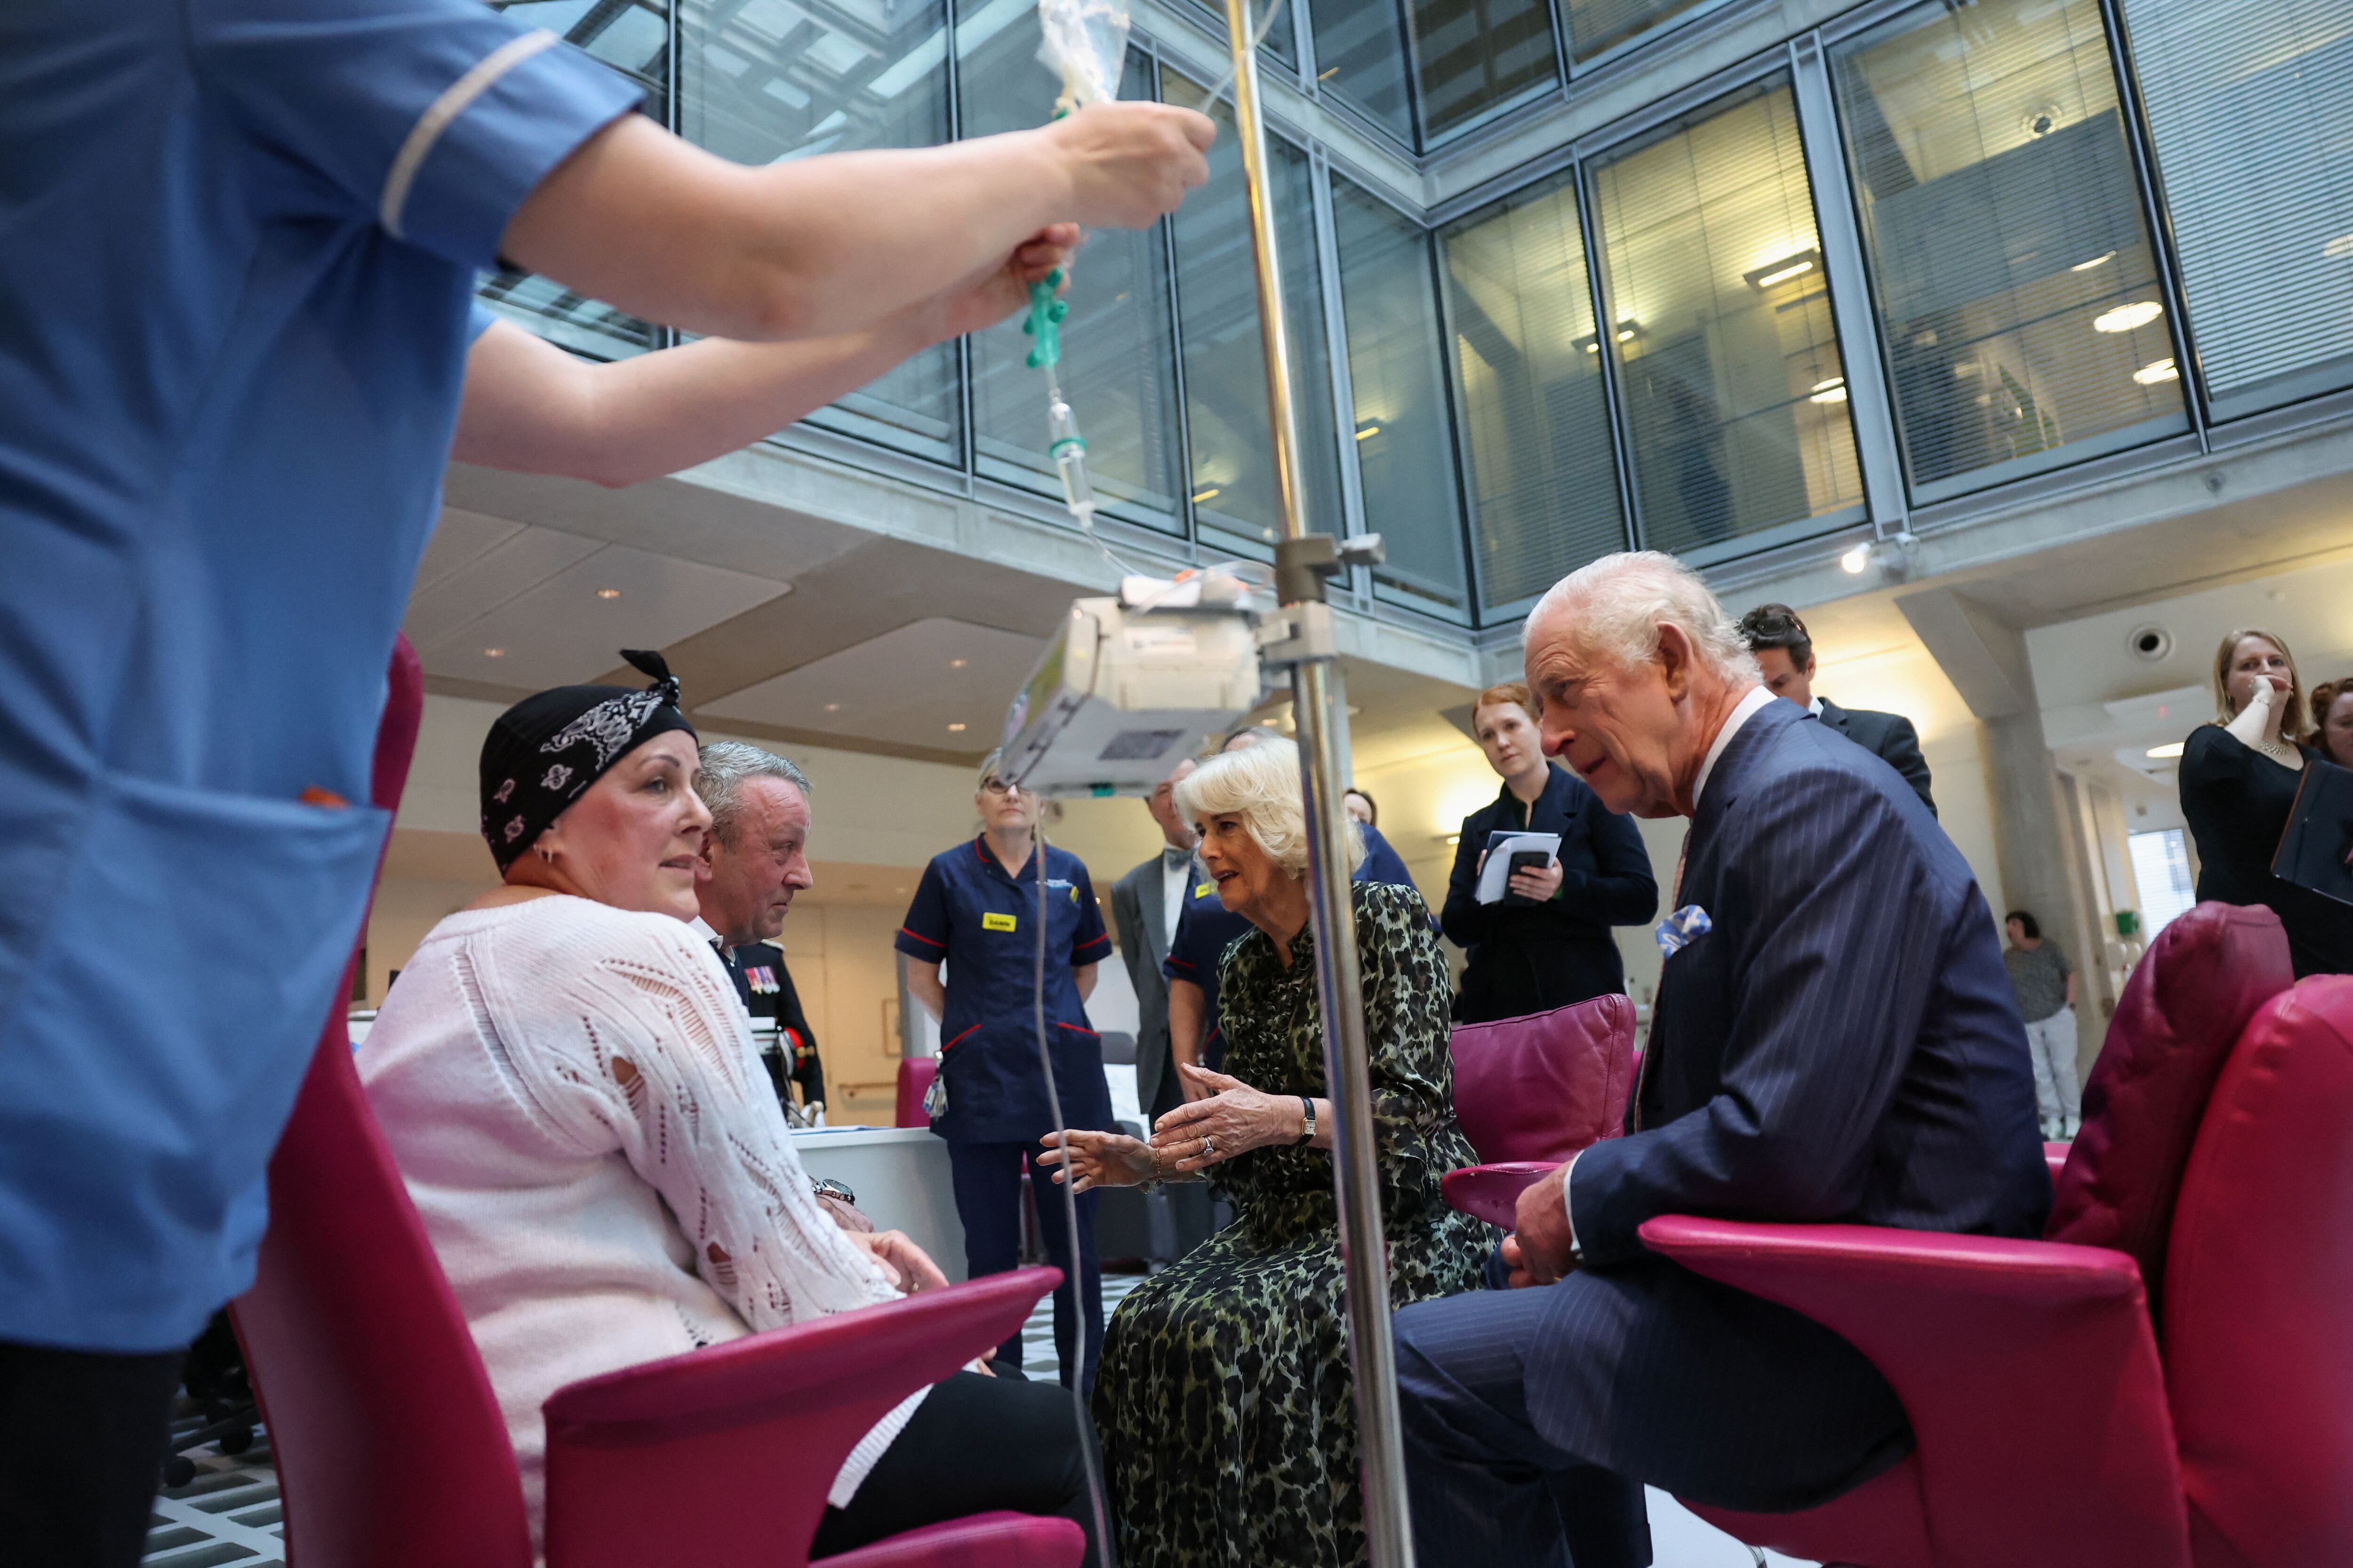
[[2097, 1246], [1647, 1222], [1842, 1333], [1918, 1439], [1819, 1509], [1694, 1512], [1868, 1568], [2353, 1563], [2353, 978], [2287, 980], [2268, 910], [2200, 905], [2141, 959], [2054, 1208]]

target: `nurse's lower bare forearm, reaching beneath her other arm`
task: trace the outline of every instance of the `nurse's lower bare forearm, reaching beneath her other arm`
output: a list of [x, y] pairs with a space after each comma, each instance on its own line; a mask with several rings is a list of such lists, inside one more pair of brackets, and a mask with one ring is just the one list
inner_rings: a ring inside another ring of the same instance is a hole
[[932, 343], [1005, 320], [1075, 240], [1073, 226], [1047, 228], [934, 299], [859, 331], [793, 343], [701, 339], [595, 364], [496, 322], [466, 357], [452, 456], [609, 487], [692, 468], [784, 430]]

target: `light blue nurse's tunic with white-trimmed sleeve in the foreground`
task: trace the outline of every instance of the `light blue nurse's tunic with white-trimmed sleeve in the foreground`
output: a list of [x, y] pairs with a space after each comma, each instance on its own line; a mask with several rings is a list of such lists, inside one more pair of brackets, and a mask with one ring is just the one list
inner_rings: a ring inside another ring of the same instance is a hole
[[252, 1281], [475, 273], [635, 101], [478, 0], [0, 5], [0, 1340]]

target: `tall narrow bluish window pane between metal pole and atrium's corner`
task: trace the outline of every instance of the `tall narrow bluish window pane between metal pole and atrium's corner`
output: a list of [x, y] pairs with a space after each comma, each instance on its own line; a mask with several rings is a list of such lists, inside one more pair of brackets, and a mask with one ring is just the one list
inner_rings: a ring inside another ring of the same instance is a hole
[[1365, 527], [1388, 543], [1388, 564], [1372, 574], [1374, 590], [1466, 618], [1471, 595], [1431, 240], [1419, 223], [1337, 176], [1332, 221]]

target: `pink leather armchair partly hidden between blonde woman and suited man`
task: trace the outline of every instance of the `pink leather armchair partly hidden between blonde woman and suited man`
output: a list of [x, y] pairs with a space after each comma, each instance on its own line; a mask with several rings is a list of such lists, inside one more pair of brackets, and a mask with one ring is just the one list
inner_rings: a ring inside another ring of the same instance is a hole
[[1548, 1013], [1454, 1030], [1454, 1119], [1478, 1166], [1447, 1171], [1447, 1204], [1513, 1227], [1520, 1192], [1586, 1145], [1626, 1131], [1633, 999], [1593, 997]]

